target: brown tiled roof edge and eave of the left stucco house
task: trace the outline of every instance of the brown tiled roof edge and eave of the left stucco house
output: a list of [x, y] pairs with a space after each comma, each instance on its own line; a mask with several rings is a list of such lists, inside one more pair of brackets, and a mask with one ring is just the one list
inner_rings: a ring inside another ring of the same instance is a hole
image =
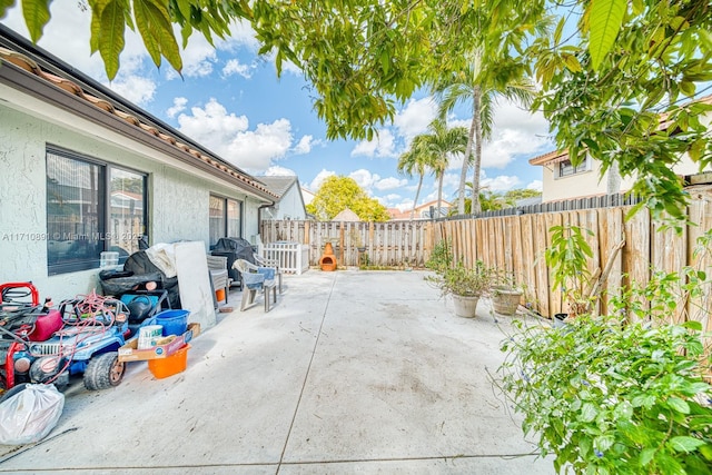
[[[277, 197], [247, 172], [2, 24], [0, 61], [0, 82], [158, 148], [185, 164], [231, 181], [260, 199], [271, 201]], [[47, 85], [52, 90], [48, 90]]]

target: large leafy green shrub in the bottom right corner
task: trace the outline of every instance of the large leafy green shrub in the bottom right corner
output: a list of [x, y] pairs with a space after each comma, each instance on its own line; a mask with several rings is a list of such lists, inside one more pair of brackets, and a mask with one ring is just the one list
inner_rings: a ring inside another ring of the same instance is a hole
[[506, 339], [503, 389], [557, 472], [712, 473], [702, 327], [582, 316]]

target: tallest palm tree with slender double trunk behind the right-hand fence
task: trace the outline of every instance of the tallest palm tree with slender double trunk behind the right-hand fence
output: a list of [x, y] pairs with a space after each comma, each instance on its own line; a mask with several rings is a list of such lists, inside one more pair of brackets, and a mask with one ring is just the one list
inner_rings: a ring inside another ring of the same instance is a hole
[[491, 61], [484, 58], [483, 48], [473, 50], [464, 70], [456, 71], [434, 86], [435, 96], [439, 99], [441, 117], [445, 117], [456, 105], [471, 102], [472, 120], [465, 149], [465, 159], [459, 176], [457, 192], [457, 210], [465, 212], [465, 182], [472, 159], [473, 144], [475, 155], [473, 162], [473, 202], [472, 212], [478, 212], [479, 171], [482, 168], [482, 141], [492, 136], [494, 107], [500, 97], [518, 101], [528, 107], [534, 98], [534, 86], [524, 76], [524, 68], [512, 58], [501, 56]]

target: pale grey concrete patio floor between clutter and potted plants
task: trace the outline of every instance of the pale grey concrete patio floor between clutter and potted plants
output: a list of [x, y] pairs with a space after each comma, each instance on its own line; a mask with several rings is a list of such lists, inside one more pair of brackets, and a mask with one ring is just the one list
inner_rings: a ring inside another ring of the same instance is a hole
[[67, 390], [41, 444], [0, 446], [0, 473], [553, 474], [493, 388], [510, 317], [452, 311], [421, 271], [285, 276], [271, 311], [231, 314], [188, 368]]

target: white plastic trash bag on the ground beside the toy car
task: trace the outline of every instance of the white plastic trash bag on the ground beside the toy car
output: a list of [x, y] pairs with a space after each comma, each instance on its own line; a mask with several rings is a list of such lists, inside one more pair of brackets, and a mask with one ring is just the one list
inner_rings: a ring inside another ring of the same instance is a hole
[[0, 444], [32, 444], [47, 437], [65, 408], [55, 385], [28, 384], [0, 403]]

